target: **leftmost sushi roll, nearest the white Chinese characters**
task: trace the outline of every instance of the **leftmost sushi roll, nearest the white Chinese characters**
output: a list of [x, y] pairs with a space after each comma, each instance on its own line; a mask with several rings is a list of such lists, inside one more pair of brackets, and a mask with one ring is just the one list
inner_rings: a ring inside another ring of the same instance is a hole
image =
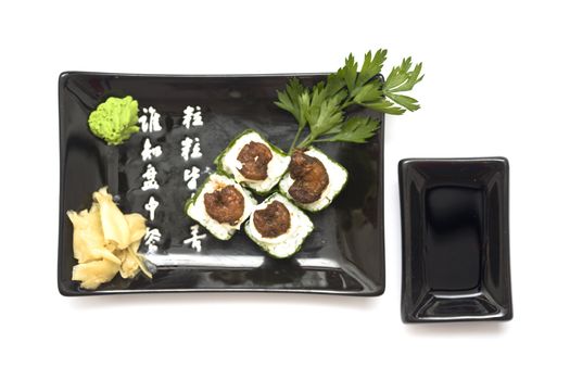
[[186, 205], [189, 217], [215, 238], [229, 240], [257, 204], [233, 179], [212, 174]]

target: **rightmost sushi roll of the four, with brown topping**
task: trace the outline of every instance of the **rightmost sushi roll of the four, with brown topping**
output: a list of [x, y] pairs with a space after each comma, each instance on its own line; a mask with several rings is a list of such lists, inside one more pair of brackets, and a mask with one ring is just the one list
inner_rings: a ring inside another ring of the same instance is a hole
[[341, 192], [349, 179], [346, 169], [316, 148], [297, 149], [279, 190], [301, 208], [318, 212]]

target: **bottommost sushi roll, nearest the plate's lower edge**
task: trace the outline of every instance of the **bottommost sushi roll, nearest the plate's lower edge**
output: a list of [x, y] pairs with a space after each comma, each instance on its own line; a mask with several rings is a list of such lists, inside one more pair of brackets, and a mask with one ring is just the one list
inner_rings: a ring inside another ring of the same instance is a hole
[[301, 250], [313, 228], [301, 208], [280, 193], [274, 193], [255, 207], [244, 230], [268, 254], [284, 258]]

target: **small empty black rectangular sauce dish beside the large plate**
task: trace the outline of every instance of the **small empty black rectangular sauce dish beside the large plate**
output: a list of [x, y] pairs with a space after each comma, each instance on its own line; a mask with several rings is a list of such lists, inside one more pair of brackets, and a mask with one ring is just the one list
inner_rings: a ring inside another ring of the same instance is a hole
[[508, 161], [400, 162], [405, 322], [512, 318]]

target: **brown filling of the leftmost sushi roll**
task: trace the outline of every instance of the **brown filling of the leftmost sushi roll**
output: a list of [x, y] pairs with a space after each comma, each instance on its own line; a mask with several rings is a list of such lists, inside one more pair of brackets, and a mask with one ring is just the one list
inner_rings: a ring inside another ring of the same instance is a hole
[[206, 213], [218, 223], [237, 225], [245, 207], [241, 192], [233, 186], [226, 186], [204, 194]]

